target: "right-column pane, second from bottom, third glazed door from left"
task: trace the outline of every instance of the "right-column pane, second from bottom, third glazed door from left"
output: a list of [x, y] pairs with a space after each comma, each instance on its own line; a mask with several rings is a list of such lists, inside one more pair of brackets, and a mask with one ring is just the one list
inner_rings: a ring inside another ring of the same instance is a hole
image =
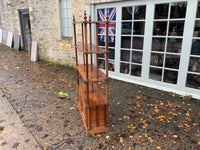
[[167, 54], [165, 59], [165, 67], [178, 69], [179, 62], [180, 62], [180, 56]]

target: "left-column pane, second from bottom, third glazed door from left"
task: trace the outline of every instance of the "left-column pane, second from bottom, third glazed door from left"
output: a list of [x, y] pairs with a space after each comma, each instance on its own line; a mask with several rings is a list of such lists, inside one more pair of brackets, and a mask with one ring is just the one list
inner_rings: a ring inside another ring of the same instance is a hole
[[160, 53], [151, 53], [151, 65], [153, 66], [163, 66], [164, 54]]

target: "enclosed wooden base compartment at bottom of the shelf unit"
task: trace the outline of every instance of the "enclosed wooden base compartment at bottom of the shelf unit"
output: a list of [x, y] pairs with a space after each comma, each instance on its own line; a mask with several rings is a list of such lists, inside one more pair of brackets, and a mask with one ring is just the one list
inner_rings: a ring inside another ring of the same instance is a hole
[[79, 97], [78, 108], [87, 133], [102, 133], [109, 130], [108, 105], [87, 107]]

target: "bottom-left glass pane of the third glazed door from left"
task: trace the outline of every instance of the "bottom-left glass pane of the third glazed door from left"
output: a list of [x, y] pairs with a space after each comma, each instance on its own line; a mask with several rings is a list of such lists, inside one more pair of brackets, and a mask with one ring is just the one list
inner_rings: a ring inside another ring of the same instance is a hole
[[162, 69], [151, 67], [150, 71], [149, 71], [149, 79], [161, 81], [161, 79], [162, 79]]

